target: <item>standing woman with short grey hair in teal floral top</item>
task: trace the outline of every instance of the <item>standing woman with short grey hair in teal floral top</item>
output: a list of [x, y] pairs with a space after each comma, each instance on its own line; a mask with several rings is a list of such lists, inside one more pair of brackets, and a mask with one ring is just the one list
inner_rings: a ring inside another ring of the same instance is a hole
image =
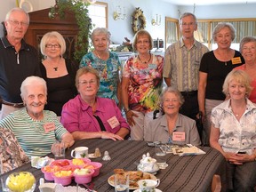
[[92, 31], [92, 44], [94, 50], [88, 52], [80, 62], [80, 68], [95, 68], [100, 75], [100, 89], [98, 96], [116, 100], [121, 106], [121, 89], [119, 71], [120, 60], [115, 52], [109, 52], [110, 32], [107, 28], [95, 28]]

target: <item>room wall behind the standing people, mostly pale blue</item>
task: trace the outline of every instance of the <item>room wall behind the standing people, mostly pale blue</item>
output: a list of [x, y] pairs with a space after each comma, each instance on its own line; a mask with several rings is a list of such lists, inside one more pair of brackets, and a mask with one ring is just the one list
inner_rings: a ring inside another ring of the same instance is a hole
[[[29, 0], [34, 7], [34, 11], [45, 9], [53, 6], [55, 0]], [[179, 0], [177, 0], [179, 1]], [[180, 12], [193, 12], [193, 6], [179, 6], [162, 2], [161, 0], [101, 0], [108, 3], [108, 29], [112, 34], [111, 40], [116, 44], [122, 44], [124, 37], [132, 40], [132, 12], [136, 7], [144, 12], [147, 18], [146, 29], [150, 32], [153, 38], [164, 39], [164, 17], [178, 18], [178, 9]], [[147, 2], [147, 3], [146, 3]], [[127, 19], [114, 20], [113, 12], [116, 6], [126, 7]], [[0, 20], [3, 21], [5, 14], [16, 6], [16, 0], [4, 1], [0, 7]], [[211, 5], [211, 6], [196, 6], [196, 16], [198, 19], [218, 19], [218, 18], [253, 18], [255, 17], [256, 4], [234, 4], [234, 5]], [[152, 18], [156, 13], [162, 15], [161, 26], [153, 27], [151, 25]], [[253, 15], [254, 13], [254, 15]], [[0, 28], [0, 36], [3, 36], [2, 26]]]

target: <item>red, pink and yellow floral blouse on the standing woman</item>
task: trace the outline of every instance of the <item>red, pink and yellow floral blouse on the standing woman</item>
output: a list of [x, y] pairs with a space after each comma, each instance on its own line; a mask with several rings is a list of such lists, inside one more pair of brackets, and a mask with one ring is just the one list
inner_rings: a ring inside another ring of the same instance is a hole
[[153, 54], [152, 63], [140, 66], [137, 56], [126, 61], [123, 76], [130, 79], [128, 87], [129, 108], [140, 112], [151, 112], [159, 108], [163, 83], [164, 57]]

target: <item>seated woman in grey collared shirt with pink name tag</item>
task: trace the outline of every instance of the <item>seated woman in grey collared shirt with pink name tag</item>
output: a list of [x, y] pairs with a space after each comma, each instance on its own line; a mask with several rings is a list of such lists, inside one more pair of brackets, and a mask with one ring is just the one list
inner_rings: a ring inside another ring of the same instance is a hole
[[165, 114], [148, 124], [144, 132], [144, 140], [177, 145], [200, 145], [196, 121], [179, 113], [183, 102], [184, 99], [177, 89], [167, 87], [161, 96]]

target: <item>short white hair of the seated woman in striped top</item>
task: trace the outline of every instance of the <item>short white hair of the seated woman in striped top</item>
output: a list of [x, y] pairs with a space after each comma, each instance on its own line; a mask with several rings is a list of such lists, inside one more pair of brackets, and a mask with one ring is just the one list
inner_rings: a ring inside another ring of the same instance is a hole
[[43, 85], [44, 86], [44, 93], [45, 95], [47, 95], [47, 85], [46, 82], [43, 78], [39, 77], [39, 76], [28, 76], [21, 84], [20, 86], [20, 96], [21, 98], [24, 98], [26, 92], [26, 86], [28, 85]]

